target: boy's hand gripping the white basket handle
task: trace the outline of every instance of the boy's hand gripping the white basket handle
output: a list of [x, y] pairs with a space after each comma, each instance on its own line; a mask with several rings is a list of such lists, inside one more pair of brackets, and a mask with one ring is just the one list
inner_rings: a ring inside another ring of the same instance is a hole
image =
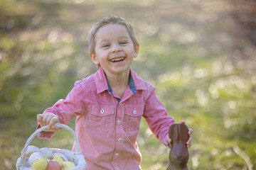
[[57, 115], [54, 115], [53, 113], [46, 113], [44, 115], [38, 114], [37, 120], [41, 127], [48, 125], [48, 129], [44, 130], [46, 132], [55, 132], [61, 129], [58, 126], [54, 125], [55, 123], [59, 122], [59, 118]]

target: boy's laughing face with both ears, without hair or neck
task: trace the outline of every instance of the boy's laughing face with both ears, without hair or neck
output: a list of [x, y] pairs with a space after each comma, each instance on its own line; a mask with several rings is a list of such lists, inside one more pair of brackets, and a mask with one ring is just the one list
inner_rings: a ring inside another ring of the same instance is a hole
[[107, 24], [95, 33], [95, 54], [90, 53], [92, 62], [100, 65], [106, 74], [129, 72], [139, 45], [134, 47], [127, 28], [121, 24]]

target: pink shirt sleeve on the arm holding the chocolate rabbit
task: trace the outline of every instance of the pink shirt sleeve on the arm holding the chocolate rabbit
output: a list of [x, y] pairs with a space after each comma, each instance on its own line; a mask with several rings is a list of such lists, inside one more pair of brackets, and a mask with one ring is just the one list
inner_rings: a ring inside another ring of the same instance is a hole
[[164, 145], [169, 147], [166, 142], [166, 137], [169, 136], [169, 128], [175, 120], [167, 115], [166, 108], [159, 98], [156, 97], [155, 89], [151, 91], [149, 98], [146, 99], [143, 117], [154, 135], [156, 135]]

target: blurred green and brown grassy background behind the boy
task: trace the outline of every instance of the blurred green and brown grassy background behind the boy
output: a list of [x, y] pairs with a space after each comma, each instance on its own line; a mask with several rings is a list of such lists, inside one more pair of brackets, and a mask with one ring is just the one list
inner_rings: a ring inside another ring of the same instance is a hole
[[[97, 70], [87, 33], [115, 13], [140, 43], [132, 68], [193, 129], [188, 168], [255, 169], [255, 0], [0, 0], [0, 169], [16, 169], [36, 114]], [[60, 130], [31, 145], [71, 149], [73, 141]], [[138, 143], [143, 169], [166, 169], [169, 149], [144, 120]]]

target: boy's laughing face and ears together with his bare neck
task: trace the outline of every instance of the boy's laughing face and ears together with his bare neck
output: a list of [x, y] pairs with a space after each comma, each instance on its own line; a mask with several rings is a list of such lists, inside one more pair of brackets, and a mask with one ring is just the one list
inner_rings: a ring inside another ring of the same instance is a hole
[[95, 52], [90, 52], [92, 62], [104, 70], [112, 91], [122, 98], [127, 89], [129, 69], [139, 52], [121, 24], [107, 24], [95, 33]]

